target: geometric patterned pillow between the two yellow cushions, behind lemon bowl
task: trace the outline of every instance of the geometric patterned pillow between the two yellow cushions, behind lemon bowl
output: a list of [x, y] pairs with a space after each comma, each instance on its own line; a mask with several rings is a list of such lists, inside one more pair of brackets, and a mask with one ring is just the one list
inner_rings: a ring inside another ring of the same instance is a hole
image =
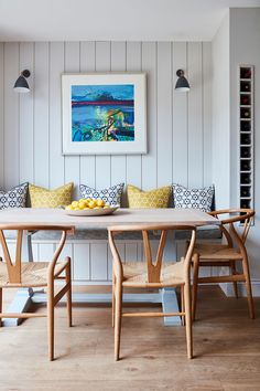
[[110, 205], [120, 205], [124, 183], [115, 184], [111, 188], [96, 190], [86, 184], [79, 184], [82, 198], [101, 199]]

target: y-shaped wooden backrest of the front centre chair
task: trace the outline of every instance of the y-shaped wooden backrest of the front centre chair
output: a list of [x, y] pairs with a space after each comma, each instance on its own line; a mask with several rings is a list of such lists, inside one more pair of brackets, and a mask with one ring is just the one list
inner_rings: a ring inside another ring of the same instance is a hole
[[[161, 268], [162, 268], [162, 260], [165, 250], [166, 236], [169, 231], [191, 231], [191, 241], [187, 247], [187, 252], [185, 254], [185, 271], [188, 273], [193, 249], [195, 244], [196, 237], [196, 228], [193, 225], [116, 225], [110, 226], [108, 229], [108, 236], [109, 236], [109, 244], [113, 257], [113, 266], [115, 266], [115, 274], [116, 277], [121, 279], [122, 278], [122, 262], [120, 258], [120, 254], [118, 252], [117, 245], [115, 243], [115, 235], [120, 232], [141, 232], [143, 239], [143, 250], [144, 250], [144, 258], [147, 262], [147, 271], [148, 271], [148, 283], [160, 283], [161, 277]], [[156, 231], [160, 232], [160, 241], [156, 252], [155, 261], [152, 260], [152, 251], [150, 244], [149, 232]]]

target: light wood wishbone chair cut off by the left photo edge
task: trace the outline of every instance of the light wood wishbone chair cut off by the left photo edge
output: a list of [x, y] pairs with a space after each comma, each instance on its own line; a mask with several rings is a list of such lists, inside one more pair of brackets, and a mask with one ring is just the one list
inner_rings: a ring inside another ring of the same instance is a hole
[[[4, 230], [15, 230], [17, 244], [15, 257], [11, 258]], [[61, 241], [57, 245], [51, 262], [22, 262], [22, 237], [23, 231], [59, 231], [62, 232]], [[58, 256], [64, 247], [66, 235], [74, 232], [74, 226], [41, 226], [41, 225], [19, 225], [7, 226], [0, 225], [0, 242], [3, 252], [4, 262], [0, 262], [0, 323], [2, 318], [32, 318], [47, 317], [48, 329], [48, 358], [54, 359], [54, 307], [66, 294], [67, 296], [67, 320], [72, 326], [72, 278], [71, 278], [71, 258], [66, 256], [63, 262], [57, 262]], [[1, 260], [2, 261], [2, 260]], [[65, 275], [62, 275], [62, 273]], [[65, 281], [65, 285], [55, 294], [55, 281]], [[2, 289], [4, 288], [34, 288], [45, 287], [47, 293], [47, 313], [22, 313], [10, 314], [2, 311]]]

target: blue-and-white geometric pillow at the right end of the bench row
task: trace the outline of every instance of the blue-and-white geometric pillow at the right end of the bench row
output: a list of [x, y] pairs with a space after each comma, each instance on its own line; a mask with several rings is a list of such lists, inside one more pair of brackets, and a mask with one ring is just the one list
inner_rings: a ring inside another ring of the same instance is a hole
[[210, 212], [214, 199], [214, 184], [203, 189], [187, 189], [181, 184], [173, 184], [174, 208], [201, 209]]

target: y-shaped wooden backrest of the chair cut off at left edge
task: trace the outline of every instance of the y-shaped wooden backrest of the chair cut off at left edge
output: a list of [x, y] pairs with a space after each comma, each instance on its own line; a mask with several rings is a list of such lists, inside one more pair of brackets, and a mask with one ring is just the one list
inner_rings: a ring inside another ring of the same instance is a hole
[[[7, 239], [4, 235], [6, 230], [9, 231], [17, 231], [17, 245], [15, 245], [15, 256], [14, 260], [11, 258], [9, 247], [7, 244]], [[55, 253], [53, 254], [52, 262], [50, 264], [50, 267], [52, 271], [55, 267], [55, 264], [58, 260], [58, 256], [63, 250], [63, 246], [66, 241], [66, 235], [67, 232], [73, 232], [74, 228], [73, 226], [61, 226], [61, 225], [51, 225], [51, 226], [42, 226], [42, 225], [0, 225], [0, 243], [2, 246], [2, 252], [3, 252], [3, 257], [6, 261], [7, 270], [8, 270], [8, 276], [9, 276], [9, 282], [11, 284], [22, 284], [22, 276], [21, 276], [21, 263], [22, 263], [22, 237], [23, 237], [23, 231], [61, 231], [62, 232], [62, 237], [59, 240], [59, 243], [57, 245], [57, 249]]]

